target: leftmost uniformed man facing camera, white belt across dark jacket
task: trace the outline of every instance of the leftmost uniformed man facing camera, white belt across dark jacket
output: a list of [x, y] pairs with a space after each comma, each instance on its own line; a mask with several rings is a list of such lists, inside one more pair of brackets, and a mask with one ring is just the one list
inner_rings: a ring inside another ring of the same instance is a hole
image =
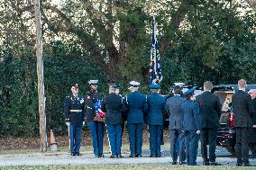
[[78, 84], [71, 86], [71, 92], [65, 100], [64, 113], [69, 128], [71, 156], [80, 156], [81, 133], [85, 124], [84, 99], [78, 96]]

